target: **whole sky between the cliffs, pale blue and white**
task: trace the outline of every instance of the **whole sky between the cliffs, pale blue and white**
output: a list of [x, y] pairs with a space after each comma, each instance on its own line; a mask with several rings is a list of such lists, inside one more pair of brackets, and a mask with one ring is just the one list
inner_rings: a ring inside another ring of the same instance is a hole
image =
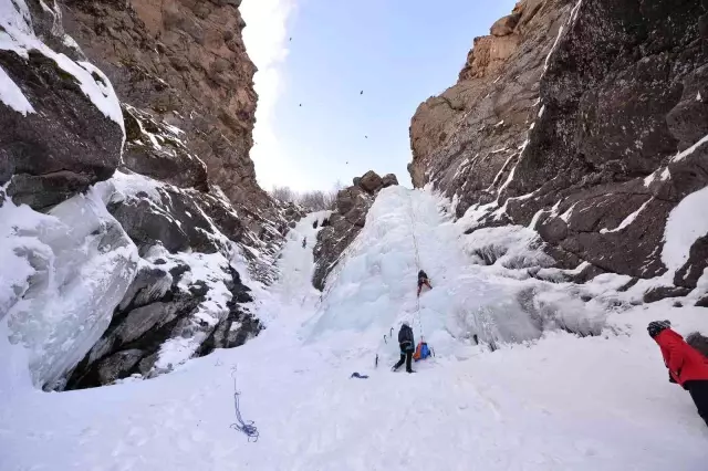
[[409, 186], [416, 108], [457, 82], [473, 38], [514, 3], [243, 0], [261, 187], [329, 190], [367, 170]]

